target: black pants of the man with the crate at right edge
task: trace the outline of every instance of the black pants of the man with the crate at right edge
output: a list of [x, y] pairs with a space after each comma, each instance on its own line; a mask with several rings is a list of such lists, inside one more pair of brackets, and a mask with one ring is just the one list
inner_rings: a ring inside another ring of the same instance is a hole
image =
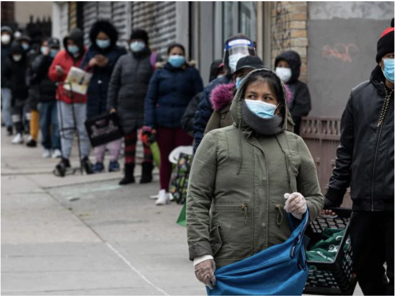
[[353, 212], [350, 234], [354, 272], [363, 294], [393, 296], [394, 212]]

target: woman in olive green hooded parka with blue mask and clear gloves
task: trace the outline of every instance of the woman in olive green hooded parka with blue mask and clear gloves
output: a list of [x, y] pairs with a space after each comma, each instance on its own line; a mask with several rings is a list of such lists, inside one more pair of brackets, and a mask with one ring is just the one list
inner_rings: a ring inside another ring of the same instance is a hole
[[303, 139], [286, 131], [286, 91], [271, 70], [252, 71], [231, 105], [233, 125], [207, 133], [188, 180], [186, 222], [196, 277], [215, 286], [214, 271], [291, 235], [286, 212], [301, 219], [324, 205]]

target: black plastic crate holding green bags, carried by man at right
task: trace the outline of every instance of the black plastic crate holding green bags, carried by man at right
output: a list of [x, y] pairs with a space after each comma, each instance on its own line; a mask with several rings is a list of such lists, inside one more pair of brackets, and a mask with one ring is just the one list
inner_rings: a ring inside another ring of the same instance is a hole
[[308, 226], [306, 235], [310, 237], [308, 248], [321, 239], [325, 228], [345, 229], [339, 250], [333, 262], [308, 261], [308, 274], [303, 293], [311, 295], [352, 295], [357, 284], [357, 278], [352, 271], [351, 244], [346, 250], [344, 245], [350, 241], [348, 221], [351, 209], [334, 209], [336, 218], [317, 217]]

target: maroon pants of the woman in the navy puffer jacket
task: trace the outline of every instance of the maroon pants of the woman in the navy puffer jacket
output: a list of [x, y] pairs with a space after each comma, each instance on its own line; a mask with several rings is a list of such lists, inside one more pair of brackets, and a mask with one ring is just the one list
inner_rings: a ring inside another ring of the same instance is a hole
[[186, 134], [182, 128], [158, 128], [156, 135], [160, 150], [160, 189], [169, 191], [169, 183], [172, 171], [172, 165], [169, 162], [171, 151], [178, 146], [192, 145], [193, 138]]

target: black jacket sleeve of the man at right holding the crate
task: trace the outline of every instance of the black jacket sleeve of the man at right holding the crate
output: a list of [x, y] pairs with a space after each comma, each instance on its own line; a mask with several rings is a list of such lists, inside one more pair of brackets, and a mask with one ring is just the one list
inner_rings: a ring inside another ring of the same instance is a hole
[[329, 189], [325, 195], [325, 205], [338, 207], [350, 186], [352, 152], [354, 149], [354, 116], [352, 93], [340, 122], [340, 144], [336, 150], [336, 164], [329, 179]]

